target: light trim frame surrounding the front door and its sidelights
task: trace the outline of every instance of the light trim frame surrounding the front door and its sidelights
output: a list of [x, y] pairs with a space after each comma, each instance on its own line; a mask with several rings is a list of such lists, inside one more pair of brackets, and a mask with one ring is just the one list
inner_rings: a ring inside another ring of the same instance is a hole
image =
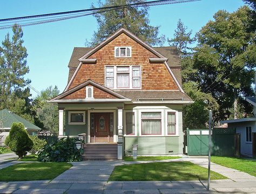
[[91, 113], [113, 113], [113, 142], [116, 143], [118, 140], [117, 136], [117, 117], [116, 117], [116, 110], [88, 110], [87, 115], [87, 142], [91, 142]]

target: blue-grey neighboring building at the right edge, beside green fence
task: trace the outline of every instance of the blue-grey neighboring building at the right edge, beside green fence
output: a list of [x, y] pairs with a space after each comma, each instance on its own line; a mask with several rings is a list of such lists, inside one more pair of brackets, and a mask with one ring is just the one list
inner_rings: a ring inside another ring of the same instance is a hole
[[[256, 82], [256, 74], [255, 74]], [[240, 153], [245, 156], [256, 156], [256, 103], [255, 96], [246, 97], [246, 101], [253, 105], [254, 117], [220, 121], [227, 123], [229, 128], [235, 128], [236, 133], [240, 134]]]

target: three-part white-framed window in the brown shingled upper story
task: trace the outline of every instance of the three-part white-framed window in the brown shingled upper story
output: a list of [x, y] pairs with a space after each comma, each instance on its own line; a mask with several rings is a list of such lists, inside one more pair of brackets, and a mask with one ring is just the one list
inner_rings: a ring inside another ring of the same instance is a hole
[[106, 66], [105, 86], [113, 89], [139, 89], [140, 77], [140, 66]]

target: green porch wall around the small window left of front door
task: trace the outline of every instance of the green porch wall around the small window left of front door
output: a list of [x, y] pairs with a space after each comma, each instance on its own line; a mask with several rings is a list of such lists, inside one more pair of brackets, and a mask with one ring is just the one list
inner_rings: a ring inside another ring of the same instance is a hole
[[68, 115], [69, 110], [65, 111], [65, 131], [66, 135], [78, 135], [80, 133], [87, 134], [87, 110], [85, 110], [85, 124], [69, 124]]

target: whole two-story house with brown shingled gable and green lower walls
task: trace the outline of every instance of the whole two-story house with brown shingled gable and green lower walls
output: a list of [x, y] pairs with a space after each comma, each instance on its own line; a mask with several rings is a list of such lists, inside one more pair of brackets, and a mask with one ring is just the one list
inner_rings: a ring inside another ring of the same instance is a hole
[[59, 137], [116, 144], [118, 159], [133, 144], [138, 155], [182, 154], [182, 108], [192, 100], [180, 68], [176, 47], [151, 47], [125, 29], [94, 48], [75, 47], [68, 85], [49, 101], [59, 108]]

